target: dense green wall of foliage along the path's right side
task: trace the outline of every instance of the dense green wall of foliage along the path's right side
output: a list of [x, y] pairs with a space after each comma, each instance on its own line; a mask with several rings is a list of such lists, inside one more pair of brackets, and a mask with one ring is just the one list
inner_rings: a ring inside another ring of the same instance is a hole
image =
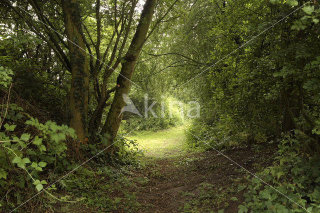
[[[175, 95], [201, 105], [201, 116], [187, 127], [187, 147], [278, 144], [274, 165], [260, 175], [300, 206], [253, 178], [241, 188], [248, 192], [239, 211], [301, 211], [301, 206], [317, 211], [317, 2], [200, 0], [183, 5], [188, 9], [176, 10], [179, 17], [161, 42], [149, 44], [161, 47], [149, 60], [160, 66], [162, 76], [154, 79], [161, 80], [169, 69], [174, 77], [166, 82]], [[166, 63], [159, 63], [164, 55]]]

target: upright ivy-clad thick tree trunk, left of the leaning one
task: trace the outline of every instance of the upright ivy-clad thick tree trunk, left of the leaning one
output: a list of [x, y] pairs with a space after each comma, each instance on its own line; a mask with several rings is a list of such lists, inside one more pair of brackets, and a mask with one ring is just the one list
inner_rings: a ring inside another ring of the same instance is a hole
[[65, 33], [68, 38], [68, 49], [71, 66], [70, 88], [70, 127], [75, 129], [77, 139], [84, 141], [87, 132], [88, 104], [88, 62], [84, 50], [81, 31], [81, 20], [77, 0], [61, 0]]

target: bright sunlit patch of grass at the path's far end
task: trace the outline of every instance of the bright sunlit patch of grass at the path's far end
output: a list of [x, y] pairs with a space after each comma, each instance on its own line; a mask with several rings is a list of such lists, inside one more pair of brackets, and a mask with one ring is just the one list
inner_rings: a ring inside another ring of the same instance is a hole
[[159, 131], [140, 131], [129, 136], [137, 140], [140, 149], [145, 149], [145, 155], [156, 158], [175, 157], [186, 152], [182, 149], [184, 133], [181, 126]]

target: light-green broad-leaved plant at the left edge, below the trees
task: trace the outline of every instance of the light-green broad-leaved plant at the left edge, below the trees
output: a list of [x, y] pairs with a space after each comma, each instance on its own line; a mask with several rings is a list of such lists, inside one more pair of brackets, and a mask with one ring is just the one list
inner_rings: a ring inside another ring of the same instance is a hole
[[[44, 179], [46, 167], [57, 169], [57, 166], [63, 167], [63, 164], [67, 164], [64, 160], [66, 156], [64, 151], [67, 147], [63, 141], [67, 137], [75, 138], [74, 129], [67, 125], [57, 125], [52, 121], [42, 124], [36, 118], [24, 113], [23, 108], [16, 104], [6, 104], [1, 107], [0, 158], [3, 160], [0, 161], [0, 193], [7, 194], [9, 188], [16, 185], [21, 189], [27, 189], [30, 187], [29, 181], [37, 191], [40, 191], [47, 184], [48, 177]], [[20, 136], [14, 134], [16, 123], [23, 123], [23, 117], [29, 117], [24, 122], [25, 129], [35, 128], [36, 133], [32, 130], [32, 134], [28, 132], [23, 132]], [[47, 188], [45, 192], [53, 196], [48, 192], [51, 189], [55, 189], [55, 185]], [[20, 195], [15, 193], [14, 196]], [[0, 206], [1, 202], [3, 200], [0, 201]]]

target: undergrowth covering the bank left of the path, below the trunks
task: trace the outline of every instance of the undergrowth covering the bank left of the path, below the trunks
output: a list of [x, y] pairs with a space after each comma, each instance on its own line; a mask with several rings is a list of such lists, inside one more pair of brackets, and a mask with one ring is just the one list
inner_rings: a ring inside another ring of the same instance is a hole
[[0, 107], [0, 211], [20, 204], [18, 211], [69, 212], [82, 206], [103, 212], [139, 206], [127, 190], [131, 183], [125, 174], [142, 165], [136, 157], [142, 151], [124, 137], [125, 131], [118, 132], [111, 157], [102, 151], [107, 140], [101, 135], [98, 142], [76, 149], [74, 130], [67, 125], [42, 123], [4, 99]]

